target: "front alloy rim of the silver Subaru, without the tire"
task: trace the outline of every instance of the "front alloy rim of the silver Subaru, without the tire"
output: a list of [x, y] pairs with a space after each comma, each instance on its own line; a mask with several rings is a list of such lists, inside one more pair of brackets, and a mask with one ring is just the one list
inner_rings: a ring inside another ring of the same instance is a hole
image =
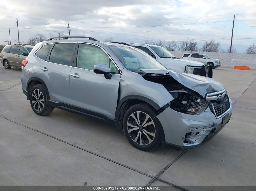
[[142, 111], [132, 113], [127, 121], [128, 134], [139, 145], [148, 145], [155, 138], [155, 123]]

